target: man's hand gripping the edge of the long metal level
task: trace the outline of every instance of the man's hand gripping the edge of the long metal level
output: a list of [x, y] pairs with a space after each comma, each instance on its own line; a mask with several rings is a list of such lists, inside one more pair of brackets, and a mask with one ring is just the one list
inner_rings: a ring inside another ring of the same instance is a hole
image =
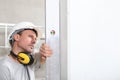
[[41, 63], [45, 63], [46, 58], [50, 57], [53, 54], [53, 52], [47, 44], [43, 43], [42, 46], [40, 47], [40, 54]]

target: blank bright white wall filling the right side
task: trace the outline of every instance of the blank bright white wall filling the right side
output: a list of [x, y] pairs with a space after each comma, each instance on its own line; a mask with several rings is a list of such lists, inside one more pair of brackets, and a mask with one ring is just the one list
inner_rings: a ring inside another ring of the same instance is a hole
[[69, 80], [120, 80], [120, 1], [68, 0]]

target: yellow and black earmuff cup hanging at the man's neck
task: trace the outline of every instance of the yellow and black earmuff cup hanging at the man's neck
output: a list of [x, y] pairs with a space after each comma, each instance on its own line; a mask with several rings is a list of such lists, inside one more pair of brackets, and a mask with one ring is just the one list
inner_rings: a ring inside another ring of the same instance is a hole
[[24, 65], [31, 65], [34, 63], [34, 58], [29, 53], [20, 52], [17, 57], [18, 61]]

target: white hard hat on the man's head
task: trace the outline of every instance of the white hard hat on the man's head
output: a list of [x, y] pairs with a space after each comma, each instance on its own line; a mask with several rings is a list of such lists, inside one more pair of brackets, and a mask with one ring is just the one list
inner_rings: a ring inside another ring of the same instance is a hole
[[8, 36], [9, 42], [10, 42], [10, 41], [13, 42], [13, 40], [14, 40], [13, 36], [14, 36], [14, 34], [19, 33], [19, 32], [21, 32], [21, 31], [24, 31], [24, 30], [29, 30], [29, 29], [30, 29], [30, 30], [33, 30], [33, 31], [36, 33], [37, 36], [40, 36], [40, 35], [38, 34], [38, 33], [40, 33], [38, 26], [35, 26], [35, 25], [34, 25], [33, 23], [31, 23], [31, 22], [21, 22], [21, 23], [16, 24], [16, 25], [12, 28], [12, 30], [11, 30], [9, 36]]

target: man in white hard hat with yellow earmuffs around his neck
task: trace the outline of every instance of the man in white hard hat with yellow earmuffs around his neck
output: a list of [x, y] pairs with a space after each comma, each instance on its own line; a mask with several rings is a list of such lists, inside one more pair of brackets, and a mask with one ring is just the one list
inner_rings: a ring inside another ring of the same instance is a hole
[[30, 22], [14, 26], [9, 36], [11, 51], [0, 60], [0, 80], [35, 80], [35, 66], [45, 63], [46, 58], [52, 55], [46, 44], [42, 44], [39, 53], [33, 53], [39, 33]]

